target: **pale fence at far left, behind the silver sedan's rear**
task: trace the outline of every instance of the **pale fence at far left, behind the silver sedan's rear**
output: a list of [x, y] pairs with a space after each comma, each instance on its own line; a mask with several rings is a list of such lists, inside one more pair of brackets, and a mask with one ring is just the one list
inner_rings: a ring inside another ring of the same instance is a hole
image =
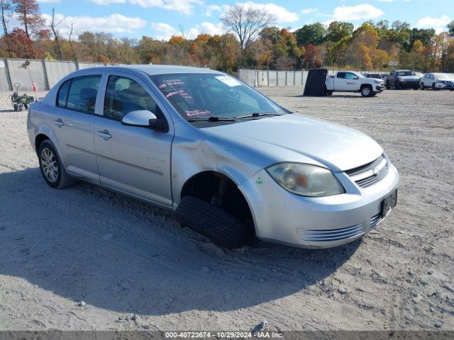
[[[30, 65], [26, 66], [26, 61]], [[0, 91], [15, 91], [14, 83], [21, 84], [19, 91], [32, 91], [33, 81], [38, 91], [47, 91], [77, 69], [101, 66], [109, 65], [99, 62], [0, 59]]]

